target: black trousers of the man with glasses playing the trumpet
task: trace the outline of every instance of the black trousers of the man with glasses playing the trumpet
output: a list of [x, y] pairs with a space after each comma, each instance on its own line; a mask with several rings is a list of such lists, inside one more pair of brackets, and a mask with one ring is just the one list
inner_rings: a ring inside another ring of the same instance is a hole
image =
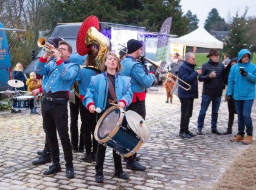
[[60, 149], [58, 146], [57, 131], [64, 152], [66, 166], [73, 166], [72, 147], [69, 139], [67, 100], [42, 102], [42, 116], [46, 134], [49, 138], [52, 162], [60, 162]]

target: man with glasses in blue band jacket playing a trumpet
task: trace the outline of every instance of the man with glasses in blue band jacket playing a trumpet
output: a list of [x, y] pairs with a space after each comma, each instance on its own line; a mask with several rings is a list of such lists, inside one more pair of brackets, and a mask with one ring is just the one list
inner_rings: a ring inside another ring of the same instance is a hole
[[[71, 86], [75, 82], [80, 66], [69, 63], [69, 56], [72, 53], [71, 45], [60, 41], [58, 50], [49, 48], [52, 56], [56, 59], [47, 65], [49, 53], [44, 53], [36, 63], [35, 72], [48, 77], [42, 102], [43, 122], [46, 126], [46, 133], [49, 138], [49, 145], [52, 157], [52, 166], [44, 171], [44, 175], [55, 174], [61, 171], [60, 150], [58, 148], [57, 131], [60, 136], [66, 161], [66, 176], [74, 177], [74, 166], [72, 147], [68, 133], [67, 101]], [[66, 64], [65, 64], [66, 63]]]

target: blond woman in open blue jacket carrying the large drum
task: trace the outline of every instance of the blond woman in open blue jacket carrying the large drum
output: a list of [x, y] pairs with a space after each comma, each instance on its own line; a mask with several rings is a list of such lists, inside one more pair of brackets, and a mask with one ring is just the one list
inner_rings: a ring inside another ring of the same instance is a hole
[[[91, 113], [94, 113], [95, 107], [100, 108], [102, 112], [97, 114], [97, 120], [100, 119], [105, 111], [111, 107], [109, 103], [116, 103], [120, 108], [130, 105], [133, 98], [131, 91], [130, 77], [119, 74], [121, 68], [120, 59], [114, 53], [105, 55], [105, 64], [103, 71], [105, 73], [91, 77], [91, 83], [87, 89], [83, 104]], [[113, 97], [114, 96], [114, 97]], [[123, 172], [121, 156], [113, 149], [115, 176], [120, 179], [128, 179], [128, 175]], [[102, 183], [103, 164], [105, 160], [106, 146], [98, 144], [97, 162], [95, 165], [95, 181]]]

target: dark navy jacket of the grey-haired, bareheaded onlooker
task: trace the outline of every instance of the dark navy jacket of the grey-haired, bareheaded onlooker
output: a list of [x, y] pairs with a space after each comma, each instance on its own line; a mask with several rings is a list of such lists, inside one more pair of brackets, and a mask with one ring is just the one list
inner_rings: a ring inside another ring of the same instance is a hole
[[[183, 88], [178, 88], [179, 98], [198, 98], [198, 72], [194, 70], [196, 65], [189, 64], [187, 61], [179, 68], [179, 79], [184, 80], [187, 84], [191, 85], [191, 89], [186, 91]], [[176, 80], [178, 81], [178, 80]], [[179, 81], [179, 85], [188, 88], [187, 85]]]

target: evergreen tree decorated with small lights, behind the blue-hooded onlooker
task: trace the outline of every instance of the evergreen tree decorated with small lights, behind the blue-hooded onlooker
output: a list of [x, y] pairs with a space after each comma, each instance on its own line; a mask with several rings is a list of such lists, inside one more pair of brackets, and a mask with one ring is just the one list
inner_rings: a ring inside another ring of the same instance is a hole
[[238, 14], [233, 18], [230, 24], [229, 41], [227, 42], [227, 53], [230, 57], [237, 57], [241, 49], [251, 49], [252, 45], [249, 43], [249, 37], [246, 35], [248, 27], [245, 19], [247, 10], [244, 15], [239, 17]]

